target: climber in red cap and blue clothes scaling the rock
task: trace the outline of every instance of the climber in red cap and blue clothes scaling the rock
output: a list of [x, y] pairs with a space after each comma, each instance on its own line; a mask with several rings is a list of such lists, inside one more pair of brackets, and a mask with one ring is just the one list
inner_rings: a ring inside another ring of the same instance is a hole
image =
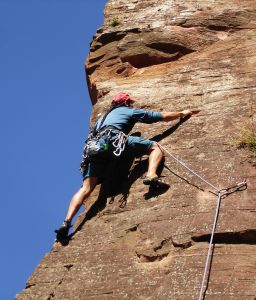
[[109, 111], [96, 122], [91, 136], [100, 137], [101, 140], [105, 141], [104, 151], [97, 153], [98, 148], [95, 150], [94, 147], [94, 151], [90, 153], [89, 143], [86, 145], [83, 155], [84, 160], [81, 164], [83, 185], [73, 196], [66, 218], [60, 228], [56, 230], [57, 240], [67, 238], [73, 217], [88, 199], [99, 180], [104, 178], [108, 165], [117, 157], [123, 158], [131, 154], [134, 157], [149, 155], [148, 170], [143, 183], [149, 186], [167, 185], [157, 175], [157, 168], [163, 159], [163, 152], [158, 144], [138, 136], [127, 136], [127, 134], [137, 122], [147, 124], [159, 121], [169, 122], [191, 116], [197, 112], [191, 110], [151, 112], [133, 108], [134, 102], [136, 100], [128, 94], [118, 93], [112, 99]]

